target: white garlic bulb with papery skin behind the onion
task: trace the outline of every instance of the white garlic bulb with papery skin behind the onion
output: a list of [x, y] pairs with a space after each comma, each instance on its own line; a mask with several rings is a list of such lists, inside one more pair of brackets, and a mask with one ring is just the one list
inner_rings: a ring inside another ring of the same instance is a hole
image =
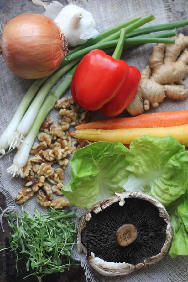
[[63, 7], [58, 1], [53, 1], [49, 5], [41, 0], [32, 1], [44, 6], [45, 15], [60, 26], [69, 46], [81, 45], [99, 34], [92, 14], [81, 7], [72, 4]]

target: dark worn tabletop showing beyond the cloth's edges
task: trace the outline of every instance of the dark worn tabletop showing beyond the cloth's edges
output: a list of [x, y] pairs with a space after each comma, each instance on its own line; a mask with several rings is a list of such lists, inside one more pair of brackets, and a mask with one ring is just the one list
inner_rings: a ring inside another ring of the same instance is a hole
[[[109, 2], [113, 1], [115, 0], [109, 0]], [[188, 0], [171, 1], [173, 20], [175, 21], [188, 18]], [[59, 0], [59, 2], [65, 5], [68, 4], [68, 1], [66, 0]], [[5, 24], [8, 20], [21, 13], [41, 13], [42, 11], [43, 8], [34, 5], [31, 0], [0, 0], [0, 23], [2, 22]], [[180, 30], [184, 34], [187, 34], [187, 27], [181, 28]], [[1, 193], [0, 207], [2, 209], [6, 207], [5, 196]], [[4, 228], [5, 232], [3, 232], [0, 227], [0, 249], [9, 246], [8, 233], [10, 232], [10, 229], [7, 225], [6, 220], [4, 220]], [[28, 272], [25, 270], [24, 260], [18, 262], [18, 270], [19, 273], [17, 275], [15, 269], [15, 255], [9, 250], [0, 252], [0, 282], [23, 281], [23, 277], [28, 275]], [[86, 282], [84, 271], [81, 269], [80, 265], [71, 267], [69, 271], [66, 271], [63, 274], [52, 275], [47, 275], [46, 278], [44, 278], [42, 281], [47, 282], [53, 279], [53, 282]], [[28, 279], [26, 279], [26, 281], [35, 282], [37, 281], [37, 279], [35, 277], [29, 277]]]

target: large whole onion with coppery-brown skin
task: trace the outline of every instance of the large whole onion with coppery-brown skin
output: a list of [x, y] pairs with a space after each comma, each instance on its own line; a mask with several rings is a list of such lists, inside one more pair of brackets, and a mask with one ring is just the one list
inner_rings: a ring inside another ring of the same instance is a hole
[[39, 14], [22, 14], [3, 29], [0, 54], [15, 75], [35, 79], [54, 72], [68, 44], [60, 27]]

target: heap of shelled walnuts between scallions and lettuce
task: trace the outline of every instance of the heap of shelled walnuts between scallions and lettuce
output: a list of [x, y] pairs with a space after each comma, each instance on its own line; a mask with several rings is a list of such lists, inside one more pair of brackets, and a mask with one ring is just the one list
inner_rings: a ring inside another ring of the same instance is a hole
[[[53, 118], [47, 117], [38, 133], [39, 142], [35, 142], [31, 149], [32, 158], [24, 166], [24, 187], [18, 192], [15, 201], [22, 204], [30, 199], [34, 193], [41, 206], [62, 208], [69, 206], [65, 198], [53, 200], [53, 193], [62, 196], [64, 170], [69, 163], [67, 157], [77, 148], [88, 145], [88, 141], [79, 144], [72, 138], [68, 129], [80, 123], [88, 122], [89, 112], [75, 104], [72, 97], [59, 99], [55, 108], [59, 109], [59, 123], [53, 123]], [[78, 147], [76, 147], [78, 146]], [[53, 168], [57, 164], [59, 168]], [[48, 183], [47, 183], [47, 182]]]

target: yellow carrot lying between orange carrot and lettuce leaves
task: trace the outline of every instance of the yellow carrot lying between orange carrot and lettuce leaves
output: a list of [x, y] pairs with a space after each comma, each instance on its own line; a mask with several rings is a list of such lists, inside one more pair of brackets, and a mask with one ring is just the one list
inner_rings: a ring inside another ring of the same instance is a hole
[[156, 137], [173, 136], [180, 144], [188, 147], [188, 125], [155, 127], [155, 128], [128, 128], [128, 129], [80, 129], [76, 130], [76, 137], [89, 141], [119, 141], [130, 144], [135, 138], [143, 135]]

